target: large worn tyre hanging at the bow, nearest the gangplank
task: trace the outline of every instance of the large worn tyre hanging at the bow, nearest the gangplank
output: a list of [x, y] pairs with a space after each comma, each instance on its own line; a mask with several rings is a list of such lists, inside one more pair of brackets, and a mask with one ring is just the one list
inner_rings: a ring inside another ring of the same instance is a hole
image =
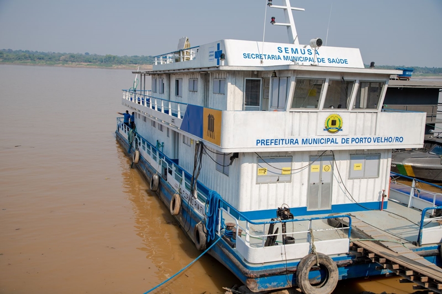
[[296, 283], [304, 294], [331, 294], [336, 288], [339, 273], [336, 264], [325, 254], [318, 253], [319, 267], [326, 271], [326, 276], [317, 284], [310, 284], [308, 274], [316, 265], [316, 254], [310, 253], [301, 259], [296, 269]]

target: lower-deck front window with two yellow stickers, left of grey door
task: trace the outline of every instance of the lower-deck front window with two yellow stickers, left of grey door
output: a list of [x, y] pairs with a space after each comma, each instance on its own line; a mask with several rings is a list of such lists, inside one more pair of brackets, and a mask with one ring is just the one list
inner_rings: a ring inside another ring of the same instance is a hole
[[292, 180], [292, 157], [258, 158], [257, 184], [284, 183]]

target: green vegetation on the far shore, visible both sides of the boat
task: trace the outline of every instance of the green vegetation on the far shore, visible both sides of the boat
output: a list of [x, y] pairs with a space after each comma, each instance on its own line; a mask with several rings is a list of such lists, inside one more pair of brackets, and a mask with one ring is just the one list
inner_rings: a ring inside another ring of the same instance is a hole
[[[137, 68], [154, 64], [153, 56], [117, 56], [83, 53], [56, 53], [30, 50], [0, 49], [0, 63], [82, 66], [99, 68]], [[365, 68], [369, 65], [365, 64]], [[428, 68], [405, 65], [376, 65], [377, 69], [394, 70], [396, 68], [413, 68], [413, 76], [440, 76], [442, 68]]]

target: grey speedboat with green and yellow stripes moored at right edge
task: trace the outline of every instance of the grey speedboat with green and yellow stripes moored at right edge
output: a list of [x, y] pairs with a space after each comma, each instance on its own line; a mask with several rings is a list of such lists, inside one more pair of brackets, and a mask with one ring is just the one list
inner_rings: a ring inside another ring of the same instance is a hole
[[399, 150], [391, 157], [391, 171], [432, 182], [442, 182], [442, 138], [424, 140], [422, 148]]

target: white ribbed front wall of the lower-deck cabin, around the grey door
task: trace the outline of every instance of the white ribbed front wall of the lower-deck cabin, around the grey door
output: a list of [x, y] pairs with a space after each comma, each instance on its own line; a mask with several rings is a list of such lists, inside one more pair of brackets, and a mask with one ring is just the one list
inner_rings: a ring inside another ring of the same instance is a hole
[[[240, 211], [276, 209], [286, 203], [290, 207], [307, 206], [308, 176], [310, 156], [320, 155], [322, 151], [298, 152], [261, 152], [266, 157], [292, 156], [292, 180], [286, 183], [256, 184], [257, 160], [254, 153], [243, 153], [241, 161], [241, 180], [239, 183], [240, 201], [236, 208]], [[324, 155], [331, 155], [327, 151]], [[350, 154], [381, 154], [379, 176], [377, 178], [349, 179]], [[336, 150], [336, 164], [333, 163], [332, 205], [355, 203], [345, 190], [351, 193], [357, 202], [381, 201], [382, 190], [388, 190], [389, 165], [391, 150]], [[305, 167], [303, 169], [303, 167]], [[339, 177], [339, 171], [341, 179]], [[224, 197], [224, 195], [222, 195]]]

